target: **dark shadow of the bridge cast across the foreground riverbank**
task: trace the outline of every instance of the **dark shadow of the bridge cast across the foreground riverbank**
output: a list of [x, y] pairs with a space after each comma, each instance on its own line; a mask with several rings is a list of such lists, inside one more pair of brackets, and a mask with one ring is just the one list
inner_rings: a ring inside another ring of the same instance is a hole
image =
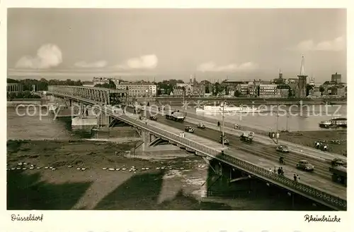
[[[105, 195], [94, 209], [250, 210], [249, 203], [242, 203], [246, 200], [246, 202], [257, 202], [258, 205], [253, 204], [251, 210], [329, 210], [318, 204], [314, 205], [314, 202], [304, 197], [295, 196], [292, 200], [292, 197], [287, 195], [287, 190], [275, 185], [267, 185], [258, 178], [230, 183], [227, 176], [221, 178], [215, 176], [215, 171], [211, 168], [207, 171], [206, 184], [210, 189], [211, 198], [216, 197], [217, 202], [196, 200], [195, 197], [185, 195], [182, 190], [179, 190], [172, 200], [159, 203], [164, 174], [164, 170], [135, 174]], [[91, 182], [47, 183], [40, 181], [40, 173], [8, 171], [7, 209], [73, 209], [90, 186]], [[231, 201], [236, 202], [236, 207], [235, 205], [231, 207], [229, 204]]]

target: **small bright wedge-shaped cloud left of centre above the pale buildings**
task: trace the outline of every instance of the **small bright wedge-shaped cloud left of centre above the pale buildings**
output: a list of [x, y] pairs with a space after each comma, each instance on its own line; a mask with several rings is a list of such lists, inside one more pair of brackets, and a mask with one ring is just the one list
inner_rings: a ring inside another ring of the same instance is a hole
[[159, 60], [155, 54], [140, 56], [137, 58], [128, 59], [123, 64], [118, 64], [115, 68], [118, 69], [154, 69]]

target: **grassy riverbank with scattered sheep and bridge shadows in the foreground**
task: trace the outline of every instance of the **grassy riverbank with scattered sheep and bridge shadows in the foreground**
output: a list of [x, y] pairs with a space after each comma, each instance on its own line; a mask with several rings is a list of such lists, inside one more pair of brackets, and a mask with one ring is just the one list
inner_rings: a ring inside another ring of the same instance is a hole
[[303, 200], [293, 208], [287, 193], [256, 178], [234, 185], [239, 192], [231, 198], [205, 198], [210, 169], [200, 157], [130, 157], [134, 146], [8, 140], [7, 209], [320, 210]]

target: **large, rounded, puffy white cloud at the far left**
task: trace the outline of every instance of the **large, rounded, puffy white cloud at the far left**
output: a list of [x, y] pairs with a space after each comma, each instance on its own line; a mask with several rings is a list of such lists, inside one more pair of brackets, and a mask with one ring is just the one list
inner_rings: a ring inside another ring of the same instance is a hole
[[62, 51], [55, 44], [44, 44], [37, 51], [37, 56], [23, 56], [16, 63], [16, 68], [47, 69], [62, 63]]

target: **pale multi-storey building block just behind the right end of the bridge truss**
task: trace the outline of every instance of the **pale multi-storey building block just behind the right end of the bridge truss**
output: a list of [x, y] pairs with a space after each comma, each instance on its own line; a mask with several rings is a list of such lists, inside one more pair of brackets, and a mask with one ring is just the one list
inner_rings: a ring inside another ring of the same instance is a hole
[[128, 97], [156, 97], [156, 85], [142, 83], [120, 83], [117, 90], [128, 90]]

